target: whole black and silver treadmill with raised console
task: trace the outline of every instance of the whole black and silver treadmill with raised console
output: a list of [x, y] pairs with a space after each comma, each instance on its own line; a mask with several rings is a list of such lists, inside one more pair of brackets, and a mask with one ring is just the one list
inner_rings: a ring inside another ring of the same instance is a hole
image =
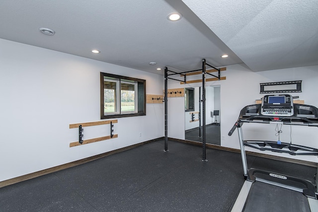
[[318, 108], [294, 104], [289, 94], [265, 95], [261, 104], [241, 109], [229, 132], [238, 129], [245, 182], [232, 212], [318, 212], [318, 176], [315, 185], [305, 179], [259, 169], [247, 169], [245, 146], [291, 155], [318, 155], [318, 149], [281, 141], [244, 141], [243, 123], [266, 123], [318, 127]]

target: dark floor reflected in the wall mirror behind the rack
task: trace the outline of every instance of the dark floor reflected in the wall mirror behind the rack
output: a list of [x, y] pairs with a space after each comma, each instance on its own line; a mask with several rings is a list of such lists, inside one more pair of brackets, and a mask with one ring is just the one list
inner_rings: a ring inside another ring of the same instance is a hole
[[[220, 125], [210, 124], [206, 125], [205, 127], [205, 134], [206, 134], [206, 143], [221, 145], [221, 131]], [[201, 126], [201, 138], [199, 137], [199, 128], [187, 130], [185, 132], [185, 140], [189, 141], [200, 141], [202, 142], [202, 126]]]

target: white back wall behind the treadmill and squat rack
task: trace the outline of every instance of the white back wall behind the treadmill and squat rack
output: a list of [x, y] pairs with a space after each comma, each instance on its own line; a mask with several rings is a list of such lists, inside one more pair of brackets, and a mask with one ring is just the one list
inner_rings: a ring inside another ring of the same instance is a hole
[[[228, 66], [227, 71], [221, 71], [221, 76], [226, 76], [227, 79], [220, 81], [210, 81], [207, 82], [206, 85], [221, 85], [221, 138], [224, 138], [224, 140], [221, 141], [222, 146], [239, 149], [237, 131], [234, 132], [231, 137], [228, 136], [228, 133], [233, 127], [234, 123], [237, 121], [240, 110], [246, 105], [255, 104], [255, 100], [260, 99], [263, 96], [263, 94], [259, 93], [259, 83], [303, 80], [303, 92], [292, 93], [292, 95], [300, 96], [299, 99], [305, 100], [305, 104], [318, 107], [318, 66], [252, 72], [244, 65], [233, 65]], [[187, 80], [192, 80], [192, 78], [189, 77]], [[180, 85], [180, 83], [177, 81], [168, 81], [168, 89], [184, 86], [201, 86], [201, 83]], [[184, 116], [182, 111], [178, 112], [174, 110], [173, 113], [174, 116], [176, 116], [176, 113], [179, 113], [180, 117]], [[168, 125], [175, 126], [178, 123], [178, 119], [170, 119]], [[275, 127], [276, 125], [245, 123], [243, 125], [244, 139], [277, 141], [278, 138], [275, 136]], [[284, 125], [282, 127], [282, 131], [283, 133], [281, 134], [280, 140], [283, 142], [290, 142], [290, 126]], [[181, 139], [183, 135], [184, 132], [181, 130], [179, 133], [174, 132], [174, 138]], [[317, 127], [292, 126], [292, 141], [295, 144], [318, 148], [317, 135]], [[250, 147], [246, 147], [246, 150], [258, 151]], [[289, 154], [275, 153], [270, 151], [258, 152], [317, 162], [317, 157], [315, 156], [291, 156]]]

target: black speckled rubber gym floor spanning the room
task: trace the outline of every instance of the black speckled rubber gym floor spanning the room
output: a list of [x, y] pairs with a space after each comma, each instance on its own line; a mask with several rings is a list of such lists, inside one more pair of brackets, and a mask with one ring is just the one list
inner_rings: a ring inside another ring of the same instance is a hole
[[[239, 153], [153, 141], [0, 188], [0, 212], [229, 212], [243, 185]], [[316, 168], [247, 155], [248, 167], [314, 180]]]

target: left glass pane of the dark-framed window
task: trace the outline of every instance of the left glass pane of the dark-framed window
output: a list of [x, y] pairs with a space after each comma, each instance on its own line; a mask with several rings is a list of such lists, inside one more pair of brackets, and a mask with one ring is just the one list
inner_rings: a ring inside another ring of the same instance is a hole
[[115, 113], [117, 82], [104, 81], [104, 114]]

